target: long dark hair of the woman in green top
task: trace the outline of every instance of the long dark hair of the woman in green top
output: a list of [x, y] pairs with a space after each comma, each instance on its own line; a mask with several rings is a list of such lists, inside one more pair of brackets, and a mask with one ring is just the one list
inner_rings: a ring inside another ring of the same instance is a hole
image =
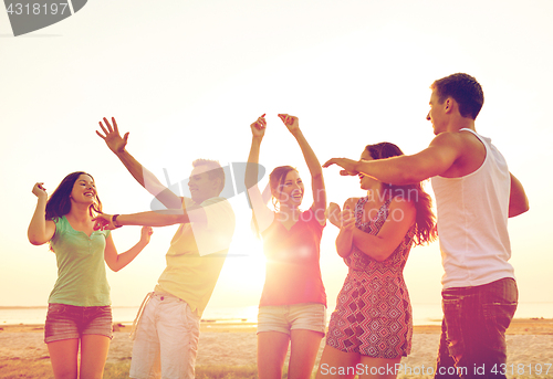
[[[73, 186], [81, 175], [87, 175], [92, 178], [92, 175], [84, 171], [71, 172], [63, 178], [62, 182], [48, 199], [46, 220], [61, 218], [71, 211], [71, 191], [73, 191]], [[94, 178], [92, 178], [92, 180], [94, 180]], [[94, 202], [90, 207], [90, 213], [91, 215], [95, 215], [94, 213], [102, 213], [102, 202], [97, 193], [94, 197]]]

